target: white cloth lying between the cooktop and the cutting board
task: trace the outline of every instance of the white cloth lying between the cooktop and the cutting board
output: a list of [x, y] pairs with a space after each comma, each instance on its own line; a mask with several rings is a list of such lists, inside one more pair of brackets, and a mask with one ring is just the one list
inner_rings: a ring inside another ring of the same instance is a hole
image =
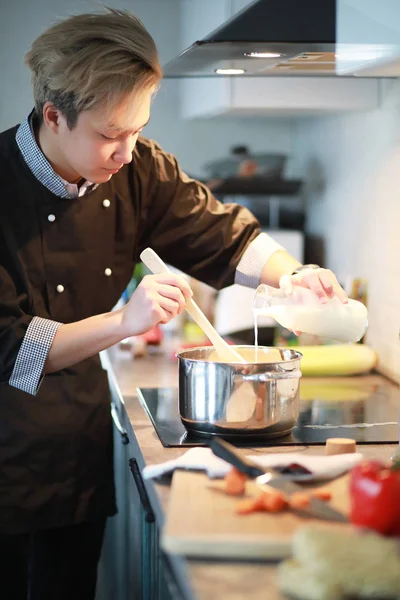
[[[294, 481], [322, 481], [343, 475], [360, 462], [363, 455], [359, 452], [335, 454], [332, 456], [313, 456], [302, 452], [279, 452], [257, 454], [248, 458], [254, 460], [254, 462], [262, 467], [287, 466], [297, 463], [311, 471], [311, 475], [293, 476], [292, 479]], [[231, 465], [215, 456], [210, 448], [196, 447], [191, 448], [175, 460], [169, 460], [158, 465], [148, 465], [143, 469], [142, 474], [144, 479], [152, 479], [153, 477], [170, 473], [175, 469], [206, 471], [211, 479], [217, 479], [224, 477], [231, 469]]]

